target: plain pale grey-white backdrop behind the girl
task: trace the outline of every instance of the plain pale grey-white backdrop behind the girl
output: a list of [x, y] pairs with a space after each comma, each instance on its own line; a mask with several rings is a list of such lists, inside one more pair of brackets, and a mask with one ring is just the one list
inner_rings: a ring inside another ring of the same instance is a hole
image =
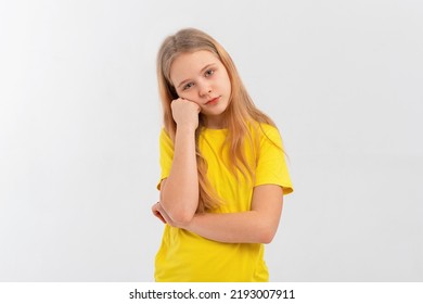
[[423, 280], [423, 4], [1, 1], [0, 281], [153, 281], [155, 56], [214, 36], [281, 130], [271, 281]]

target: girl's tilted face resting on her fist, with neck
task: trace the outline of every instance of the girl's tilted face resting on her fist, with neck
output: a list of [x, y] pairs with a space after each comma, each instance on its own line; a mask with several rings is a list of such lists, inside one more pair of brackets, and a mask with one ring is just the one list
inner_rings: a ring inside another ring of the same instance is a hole
[[220, 60], [209, 51], [178, 55], [170, 66], [170, 80], [180, 98], [200, 105], [207, 127], [221, 128], [231, 96], [231, 81]]

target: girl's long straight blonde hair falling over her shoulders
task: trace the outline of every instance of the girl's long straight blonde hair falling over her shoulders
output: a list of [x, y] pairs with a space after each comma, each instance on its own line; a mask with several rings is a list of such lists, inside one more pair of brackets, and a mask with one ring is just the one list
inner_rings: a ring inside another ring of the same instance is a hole
[[[203, 50], [214, 53], [226, 67], [231, 81], [232, 90], [230, 102], [225, 113], [225, 121], [227, 122], [228, 128], [226, 144], [229, 148], [229, 165], [236, 177], [240, 172], [244, 178], [253, 178], [255, 168], [252, 168], [251, 165], [248, 165], [244, 145], [248, 142], [254, 149], [257, 143], [253, 142], [248, 126], [253, 126], [253, 130], [258, 131], [260, 123], [266, 123], [273, 127], [275, 127], [275, 125], [270, 117], [254, 105], [228, 52], [214, 38], [202, 30], [195, 28], [181, 29], [177, 34], [167, 37], [158, 51], [157, 80], [165, 130], [174, 141], [177, 125], [171, 114], [170, 103], [172, 100], [178, 99], [178, 94], [170, 80], [171, 63], [181, 53]], [[197, 213], [211, 211], [222, 203], [216, 191], [214, 191], [209, 185], [206, 175], [207, 162], [198, 150], [198, 137], [204, 125], [205, 117], [200, 114], [198, 128], [195, 131], [195, 150], [200, 186]]]

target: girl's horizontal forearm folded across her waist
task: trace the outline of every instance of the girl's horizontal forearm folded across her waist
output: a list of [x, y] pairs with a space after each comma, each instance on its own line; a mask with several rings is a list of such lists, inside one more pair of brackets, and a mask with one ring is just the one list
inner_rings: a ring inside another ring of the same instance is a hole
[[203, 238], [226, 243], [270, 243], [278, 224], [257, 211], [198, 214], [184, 227]]

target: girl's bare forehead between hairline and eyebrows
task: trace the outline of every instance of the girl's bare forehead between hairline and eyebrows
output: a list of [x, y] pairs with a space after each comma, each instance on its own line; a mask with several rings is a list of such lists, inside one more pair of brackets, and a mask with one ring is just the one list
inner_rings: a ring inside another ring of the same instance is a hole
[[170, 79], [177, 85], [196, 76], [208, 64], [220, 64], [220, 60], [209, 51], [181, 53], [170, 65]]

